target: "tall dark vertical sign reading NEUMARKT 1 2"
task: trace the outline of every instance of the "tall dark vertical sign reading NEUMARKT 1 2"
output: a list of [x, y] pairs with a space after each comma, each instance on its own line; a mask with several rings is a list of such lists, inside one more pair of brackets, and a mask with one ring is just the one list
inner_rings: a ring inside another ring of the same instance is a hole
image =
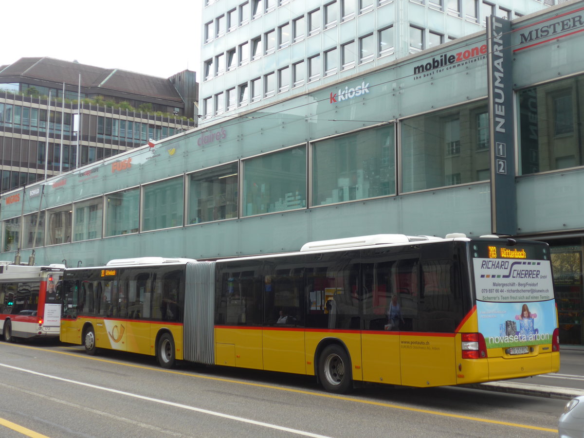
[[487, 18], [489, 130], [491, 140], [491, 228], [517, 234], [511, 22]]

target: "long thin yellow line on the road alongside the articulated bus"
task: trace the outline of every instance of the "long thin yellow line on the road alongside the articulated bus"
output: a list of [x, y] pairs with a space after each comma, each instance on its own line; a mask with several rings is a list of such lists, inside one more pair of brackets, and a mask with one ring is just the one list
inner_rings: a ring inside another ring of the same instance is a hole
[[[439, 411], [430, 411], [430, 409], [409, 408], [408, 406], [394, 405], [394, 404], [391, 404], [391, 403], [374, 402], [374, 401], [367, 401], [367, 400], [358, 400], [358, 399], [355, 399], [355, 398], [344, 397], [342, 395], [329, 394], [328, 392], [314, 392], [314, 391], [295, 390], [293, 388], [281, 388], [281, 387], [277, 387], [277, 386], [273, 386], [273, 385], [266, 385], [266, 384], [261, 384], [261, 383], [242, 382], [240, 380], [231, 380], [231, 379], [228, 379], [228, 378], [211, 377], [211, 376], [200, 376], [200, 375], [197, 375], [197, 374], [185, 373], [183, 371], [165, 370], [165, 369], [158, 368], [158, 367], [149, 367], [149, 366], [143, 366], [143, 365], [134, 365], [134, 364], [128, 364], [128, 363], [121, 363], [121, 362], [114, 361], [114, 360], [100, 359], [99, 357], [88, 356], [86, 354], [83, 355], [83, 354], [74, 354], [74, 353], [68, 353], [68, 352], [60, 352], [58, 350], [50, 350], [50, 349], [44, 349], [44, 348], [41, 348], [41, 347], [33, 347], [33, 346], [28, 346], [28, 345], [19, 345], [19, 344], [12, 344], [12, 345], [13, 346], [23, 347], [23, 348], [28, 348], [28, 349], [32, 349], [32, 350], [41, 350], [41, 351], [44, 351], [44, 352], [52, 352], [52, 353], [58, 353], [58, 354], [65, 354], [67, 356], [82, 357], [82, 358], [88, 359], [88, 360], [97, 360], [97, 361], [100, 361], [100, 362], [111, 363], [111, 364], [115, 364], [115, 365], [123, 365], [123, 366], [127, 366], [127, 367], [133, 367], [133, 368], [143, 369], [143, 370], [151, 370], [151, 371], [159, 371], [159, 372], [162, 372], [162, 373], [177, 374], [178, 376], [196, 377], [196, 378], [203, 378], [203, 379], [206, 379], [206, 380], [220, 381], [220, 382], [224, 382], [224, 383], [235, 383], [235, 384], [239, 384], [239, 385], [248, 385], [248, 386], [253, 386], [253, 387], [258, 387], [258, 388], [267, 388], [267, 389], [270, 389], [270, 390], [279, 390], [279, 391], [286, 391], [286, 392], [295, 392], [296, 394], [312, 395], [314, 397], [331, 398], [331, 399], [349, 401], [349, 402], [360, 403], [360, 404], [365, 404], [365, 405], [382, 406], [384, 408], [399, 409], [401, 411], [429, 413], [430, 415], [437, 415], [437, 416], [443, 416], [443, 417], [449, 417], [449, 418], [457, 418], [457, 419], [463, 419], [463, 420], [470, 420], [470, 421], [481, 422], [481, 423], [489, 423], [489, 424], [492, 424], [492, 425], [502, 425], [502, 426], [510, 426], [510, 427], [519, 427], [520, 429], [541, 430], [543, 432], [558, 433], [558, 429], [548, 429], [547, 427], [538, 427], [538, 426], [531, 426], [531, 425], [522, 425], [520, 423], [509, 423], [509, 422], [505, 422], [505, 421], [489, 420], [489, 419], [485, 419], [485, 418], [471, 417], [471, 416], [468, 416], [468, 415], [458, 415], [456, 413], [446, 413], [446, 412], [439, 412]], [[71, 350], [75, 350], [75, 351], [78, 351], [79, 352], [79, 349], [77, 349], [75, 347], [64, 347], [64, 348], [71, 349]]]

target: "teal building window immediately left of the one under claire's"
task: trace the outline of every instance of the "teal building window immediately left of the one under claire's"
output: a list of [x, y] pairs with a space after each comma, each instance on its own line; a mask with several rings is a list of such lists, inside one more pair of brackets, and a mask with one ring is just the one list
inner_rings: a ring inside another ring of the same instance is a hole
[[179, 176], [143, 187], [142, 231], [182, 227], [183, 185]]

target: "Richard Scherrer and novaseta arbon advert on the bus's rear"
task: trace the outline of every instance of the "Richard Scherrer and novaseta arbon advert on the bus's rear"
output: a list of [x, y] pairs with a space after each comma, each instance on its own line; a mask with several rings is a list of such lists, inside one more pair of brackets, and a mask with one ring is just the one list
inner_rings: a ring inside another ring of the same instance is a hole
[[474, 274], [487, 348], [552, 343], [557, 320], [548, 260], [474, 259]]

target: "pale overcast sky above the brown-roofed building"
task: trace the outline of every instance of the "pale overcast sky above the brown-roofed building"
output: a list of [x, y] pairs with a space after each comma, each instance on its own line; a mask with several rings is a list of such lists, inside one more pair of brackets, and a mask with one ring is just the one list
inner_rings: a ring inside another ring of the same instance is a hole
[[202, 0], [0, 1], [0, 65], [46, 56], [199, 80]]

